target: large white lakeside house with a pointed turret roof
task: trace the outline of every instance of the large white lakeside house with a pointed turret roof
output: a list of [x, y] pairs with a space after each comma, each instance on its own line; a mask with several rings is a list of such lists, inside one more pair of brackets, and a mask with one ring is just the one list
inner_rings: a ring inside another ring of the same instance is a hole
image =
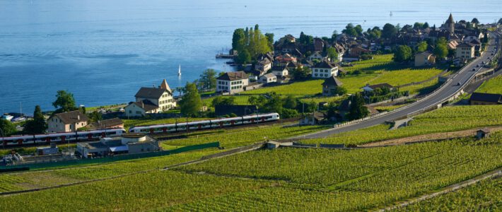
[[140, 88], [134, 97], [136, 102], [131, 102], [124, 108], [128, 117], [144, 116], [146, 113], [158, 113], [176, 107], [173, 92], [165, 79], [158, 88]]

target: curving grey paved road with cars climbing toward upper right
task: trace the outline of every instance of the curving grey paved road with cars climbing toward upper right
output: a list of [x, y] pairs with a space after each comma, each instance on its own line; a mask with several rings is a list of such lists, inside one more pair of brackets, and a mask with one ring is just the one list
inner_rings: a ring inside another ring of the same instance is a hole
[[[491, 36], [494, 38], [498, 38], [501, 35], [496, 34], [496, 33], [491, 33]], [[497, 42], [495, 42], [497, 40]], [[325, 131], [319, 131], [313, 134], [308, 134], [304, 136], [297, 136], [294, 139], [318, 139], [318, 138], [324, 138], [326, 136], [332, 135], [332, 134], [338, 134], [341, 132], [345, 131], [353, 131], [356, 129], [363, 129], [369, 126], [375, 126], [378, 124], [383, 124], [386, 121], [389, 120], [394, 120], [398, 119], [400, 117], [407, 116], [408, 114], [413, 114], [415, 112], [420, 112], [421, 110], [425, 110], [426, 108], [432, 107], [434, 105], [440, 105], [441, 103], [445, 102], [445, 99], [448, 99], [455, 95], [461, 88], [465, 86], [467, 81], [469, 81], [469, 78], [474, 76], [480, 68], [477, 68], [476, 66], [478, 64], [481, 64], [481, 61], [488, 61], [488, 58], [494, 57], [491, 55], [492, 52], [497, 49], [497, 46], [500, 46], [501, 44], [498, 43], [498, 39], [491, 39], [490, 40], [490, 45], [487, 47], [486, 52], [481, 57], [478, 57], [471, 63], [467, 64], [462, 68], [460, 71], [458, 71], [457, 75], [453, 77], [450, 81], [446, 82], [443, 87], [440, 88], [435, 93], [431, 93], [430, 95], [426, 96], [426, 98], [423, 98], [417, 102], [412, 103], [411, 105], [407, 105], [406, 107], [399, 108], [397, 110], [394, 110], [392, 112], [389, 112], [387, 114], [384, 114], [380, 117], [375, 117], [373, 119], [367, 119], [362, 122], [358, 122], [356, 124], [351, 124], [351, 125], [346, 125], [346, 126], [339, 126], [334, 129], [328, 129]], [[498, 49], [497, 49], [498, 50]], [[472, 69], [476, 69], [477, 71], [472, 71]], [[460, 86], [459, 86], [460, 83]]]

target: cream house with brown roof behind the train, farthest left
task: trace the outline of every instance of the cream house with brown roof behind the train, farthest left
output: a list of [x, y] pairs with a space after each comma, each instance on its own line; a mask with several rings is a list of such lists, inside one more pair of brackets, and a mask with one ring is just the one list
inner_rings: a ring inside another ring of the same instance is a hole
[[88, 117], [79, 110], [53, 114], [47, 120], [47, 132], [71, 132], [87, 126]]

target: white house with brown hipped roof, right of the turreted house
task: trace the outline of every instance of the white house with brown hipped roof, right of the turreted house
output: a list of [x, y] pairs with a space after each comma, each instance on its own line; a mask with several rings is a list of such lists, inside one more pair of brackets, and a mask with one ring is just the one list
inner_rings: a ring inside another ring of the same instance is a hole
[[239, 93], [249, 84], [244, 71], [227, 72], [216, 78], [216, 92]]

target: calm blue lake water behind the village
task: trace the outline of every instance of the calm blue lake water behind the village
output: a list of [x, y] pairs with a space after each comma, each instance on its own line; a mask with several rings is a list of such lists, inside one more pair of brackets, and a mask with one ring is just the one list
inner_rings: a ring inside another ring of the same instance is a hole
[[[393, 16], [389, 13], [392, 11]], [[204, 69], [229, 71], [214, 55], [231, 45], [235, 28], [260, 25], [276, 38], [303, 31], [329, 36], [346, 23], [363, 28], [427, 21], [440, 25], [502, 17], [488, 1], [0, 1], [0, 112], [52, 110], [57, 90], [78, 105], [134, 100], [141, 86], [171, 88]], [[176, 75], [182, 66], [182, 77]]]

